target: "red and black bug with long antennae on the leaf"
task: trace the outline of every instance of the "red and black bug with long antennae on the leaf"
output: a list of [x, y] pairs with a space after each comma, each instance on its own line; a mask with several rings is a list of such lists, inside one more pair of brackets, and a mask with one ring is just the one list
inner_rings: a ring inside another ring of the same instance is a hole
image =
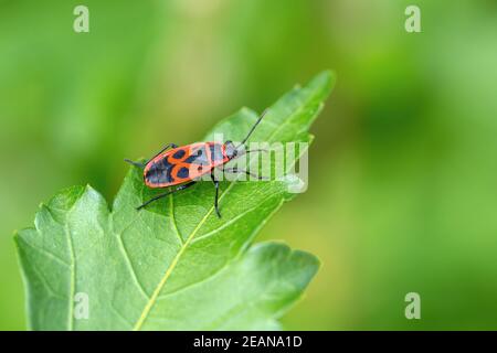
[[262, 180], [262, 176], [252, 174], [246, 170], [234, 168], [224, 168], [224, 164], [231, 160], [250, 152], [265, 151], [265, 150], [245, 150], [241, 153], [240, 148], [245, 147], [245, 142], [254, 132], [257, 125], [263, 119], [267, 110], [258, 117], [257, 121], [252, 126], [251, 130], [239, 146], [230, 140], [224, 143], [221, 142], [197, 142], [178, 147], [175, 143], [169, 143], [162, 148], [155, 157], [148, 161], [140, 163], [125, 159], [126, 162], [133, 165], [144, 168], [144, 182], [148, 188], [159, 189], [177, 186], [168, 192], [158, 194], [139, 205], [137, 210], [141, 210], [148, 204], [159, 199], [166, 197], [175, 192], [188, 189], [194, 185], [198, 180], [210, 173], [211, 180], [215, 188], [214, 208], [218, 217], [221, 218], [219, 212], [219, 181], [214, 176], [214, 169], [222, 168], [222, 171], [229, 173], [245, 173]]

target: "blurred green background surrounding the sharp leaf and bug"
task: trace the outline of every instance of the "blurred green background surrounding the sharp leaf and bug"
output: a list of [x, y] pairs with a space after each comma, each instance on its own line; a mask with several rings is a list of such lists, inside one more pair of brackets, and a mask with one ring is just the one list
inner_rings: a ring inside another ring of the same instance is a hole
[[[422, 33], [406, 33], [417, 4]], [[73, 9], [89, 8], [89, 33]], [[0, 329], [24, 329], [12, 233], [123, 158], [188, 143], [332, 68], [309, 189], [262, 238], [322, 267], [295, 330], [497, 329], [497, 3], [0, 1]], [[421, 295], [421, 320], [404, 296]]]

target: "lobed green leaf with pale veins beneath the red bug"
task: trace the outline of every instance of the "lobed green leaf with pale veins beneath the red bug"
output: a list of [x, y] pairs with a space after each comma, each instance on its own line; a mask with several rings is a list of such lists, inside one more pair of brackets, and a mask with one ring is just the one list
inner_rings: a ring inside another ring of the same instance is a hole
[[[308, 141], [334, 83], [329, 72], [272, 106], [251, 140]], [[214, 132], [241, 140], [257, 114], [242, 109]], [[305, 290], [318, 268], [310, 254], [278, 243], [252, 246], [294, 196], [290, 179], [222, 182], [213, 208], [208, 182], [151, 204], [157, 194], [131, 168], [112, 211], [89, 186], [55, 195], [17, 245], [34, 330], [264, 330]], [[80, 293], [87, 299], [85, 317]], [[76, 300], [75, 300], [76, 298]], [[83, 310], [83, 311], [82, 311]]]

